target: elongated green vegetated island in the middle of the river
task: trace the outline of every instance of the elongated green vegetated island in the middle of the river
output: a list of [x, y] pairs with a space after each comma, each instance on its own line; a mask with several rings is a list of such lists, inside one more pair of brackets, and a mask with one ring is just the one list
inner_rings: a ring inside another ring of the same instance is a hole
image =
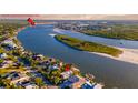
[[56, 35], [55, 38], [58, 41], [77, 50], [106, 53], [112, 56], [118, 56], [119, 54], [122, 53], [121, 50], [112, 48], [112, 47], [107, 47], [107, 45], [95, 43], [95, 42], [83, 41], [83, 40], [79, 40], [76, 38], [68, 37], [68, 35]]

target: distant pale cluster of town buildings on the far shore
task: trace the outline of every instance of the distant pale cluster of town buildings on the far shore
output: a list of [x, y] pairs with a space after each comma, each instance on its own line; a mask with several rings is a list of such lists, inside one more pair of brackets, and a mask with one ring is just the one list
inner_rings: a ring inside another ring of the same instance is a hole
[[106, 21], [62, 21], [62, 22], [56, 22], [55, 27], [65, 29], [65, 30], [72, 30], [72, 31], [82, 31], [82, 30], [105, 30], [105, 31], [111, 31], [111, 25], [114, 22], [106, 22]]

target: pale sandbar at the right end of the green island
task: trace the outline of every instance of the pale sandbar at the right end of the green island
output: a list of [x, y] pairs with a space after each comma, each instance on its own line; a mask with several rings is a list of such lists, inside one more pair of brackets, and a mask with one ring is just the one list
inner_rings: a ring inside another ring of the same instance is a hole
[[92, 53], [101, 56], [115, 59], [118, 61], [125, 61], [125, 62], [138, 64], [138, 49], [125, 49], [125, 48], [117, 48], [117, 49], [122, 50], [122, 54], [120, 54], [118, 58], [105, 53], [97, 53], [97, 52], [92, 52]]

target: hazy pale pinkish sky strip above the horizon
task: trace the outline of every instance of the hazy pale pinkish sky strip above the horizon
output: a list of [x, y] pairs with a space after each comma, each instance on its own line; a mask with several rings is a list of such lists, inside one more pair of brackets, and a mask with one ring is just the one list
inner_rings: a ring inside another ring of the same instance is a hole
[[0, 14], [0, 19], [40, 20], [138, 20], [138, 14]]

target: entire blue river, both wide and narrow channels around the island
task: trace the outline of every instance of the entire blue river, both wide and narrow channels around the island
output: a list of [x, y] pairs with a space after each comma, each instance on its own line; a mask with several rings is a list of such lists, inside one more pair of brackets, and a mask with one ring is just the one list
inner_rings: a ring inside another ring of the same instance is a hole
[[[18, 39], [27, 50], [73, 63], [81, 72], [92, 73], [97, 81], [106, 84], [106, 87], [138, 87], [138, 65], [73, 50], [50, 35], [60, 33], [102, 44], [138, 49], [138, 41], [89, 37], [65, 30], [59, 32], [53, 31], [52, 25], [45, 24], [28, 27], [19, 32]], [[124, 44], [120, 44], [120, 42], [124, 42]]]

